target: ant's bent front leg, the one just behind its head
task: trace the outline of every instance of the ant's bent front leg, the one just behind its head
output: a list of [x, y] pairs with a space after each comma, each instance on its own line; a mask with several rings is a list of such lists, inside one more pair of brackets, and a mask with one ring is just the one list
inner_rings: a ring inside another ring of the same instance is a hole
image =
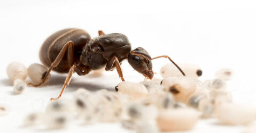
[[105, 70], [106, 71], [109, 71], [112, 69], [113, 65], [115, 63], [115, 68], [117, 69], [118, 71], [118, 75], [119, 77], [122, 79], [122, 81], [125, 81], [125, 79], [123, 78], [123, 73], [122, 73], [122, 70], [121, 70], [121, 66], [120, 66], [120, 63], [118, 61], [118, 58], [116, 56], [113, 56], [106, 64], [106, 68]]

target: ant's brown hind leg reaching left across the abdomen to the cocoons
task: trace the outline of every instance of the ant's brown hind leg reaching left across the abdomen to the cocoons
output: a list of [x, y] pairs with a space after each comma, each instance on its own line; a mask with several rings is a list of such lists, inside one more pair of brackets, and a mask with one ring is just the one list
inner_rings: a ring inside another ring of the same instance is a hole
[[[34, 86], [34, 87], [41, 86], [41, 85], [45, 82], [45, 80], [47, 79], [47, 77], [49, 76], [51, 70], [52, 70], [53, 68], [55, 68], [55, 67], [60, 63], [60, 61], [62, 60], [62, 58], [63, 58], [65, 52], [67, 51], [67, 49], [68, 49], [68, 60], [70, 60], [70, 61], [68, 61], [68, 65], [71, 65], [72, 62], [74, 62], [74, 59], [72, 59], [72, 57], [73, 57], [73, 41], [68, 41], [68, 42], [63, 46], [63, 48], [61, 49], [61, 51], [59, 52], [59, 54], [58, 54], [58, 56], [56, 57], [55, 61], [53, 61], [53, 62], [51, 63], [51, 67], [50, 67], [50, 68], [48, 69], [48, 71], [46, 72], [46, 74], [45, 74], [45, 76], [44, 76], [44, 78], [43, 78], [43, 81], [42, 81], [40, 84], [38, 84], [38, 85], [34, 85], [34, 84], [32, 84], [31, 82], [29, 82], [28, 85], [32, 85], [32, 86]], [[71, 57], [71, 56], [72, 56], [72, 57]]]

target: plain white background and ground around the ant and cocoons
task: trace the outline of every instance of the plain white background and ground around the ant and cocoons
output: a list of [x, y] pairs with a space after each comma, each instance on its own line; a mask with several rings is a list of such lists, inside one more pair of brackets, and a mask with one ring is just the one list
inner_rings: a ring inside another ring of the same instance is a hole
[[[22, 127], [22, 118], [33, 111], [43, 111], [50, 97], [56, 97], [65, 75], [52, 73], [43, 87], [28, 87], [24, 94], [13, 95], [6, 66], [19, 61], [26, 66], [40, 63], [38, 51], [53, 32], [81, 28], [97, 36], [120, 32], [127, 35], [133, 49], [144, 47], [152, 57], [169, 55], [175, 62], [194, 63], [203, 69], [200, 79], [214, 78], [220, 68], [231, 68], [234, 78], [228, 89], [235, 102], [255, 105], [256, 4], [253, 1], [1, 1], [0, 2], [0, 103], [11, 112], [0, 117], [0, 132], [130, 132], [119, 123], [77, 126], [63, 130]], [[159, 72], [166, 59], [153, 61]], [[124, 78], [142, 81], [124, 61]], [[76, 74], [75, 74], [76, 75]], [[74, 76], [63, 98], [70, 98], [79, 87], [114, 89], [118, 74], [103, 77]], [[207, 131], [206, 131], [207, 130]], [[201, 120], [188, 132], [241, 132], [242, 126], [221, 126], [215, 119]]]

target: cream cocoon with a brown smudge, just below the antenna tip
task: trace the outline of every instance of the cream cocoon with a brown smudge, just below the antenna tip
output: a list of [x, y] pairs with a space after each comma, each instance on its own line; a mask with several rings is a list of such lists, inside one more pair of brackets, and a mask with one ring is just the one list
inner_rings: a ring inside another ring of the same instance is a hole
[[169, 77], [162, 81], [167, 92], [173, 94], [178, 102], [185, 103], [187, 98], [196, 91], [196, 82], [189, 77]]

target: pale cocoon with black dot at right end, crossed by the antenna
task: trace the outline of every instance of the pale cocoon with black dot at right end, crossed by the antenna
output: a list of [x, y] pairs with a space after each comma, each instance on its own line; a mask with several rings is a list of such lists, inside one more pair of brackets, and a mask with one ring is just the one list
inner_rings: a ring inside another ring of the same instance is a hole
[[[177, 64], [184, 71], [187, 77], [200, 77], [203, 71], [198, 65], [195, 64]], [[165, 64], [160, 70], [161, 76], [163, 78], [168, 77], [183, 77], [183, 74], [176, 68], [172, 63]]]

